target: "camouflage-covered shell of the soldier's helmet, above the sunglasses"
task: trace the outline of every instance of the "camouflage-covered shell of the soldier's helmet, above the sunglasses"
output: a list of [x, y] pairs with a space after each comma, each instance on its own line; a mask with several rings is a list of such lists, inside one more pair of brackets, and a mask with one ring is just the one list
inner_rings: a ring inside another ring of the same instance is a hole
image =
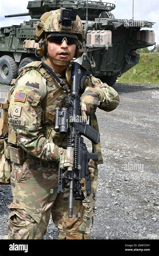
[[37, 28], [34, 32], [35, 42], [39, 42], [44, 33], [67, 33], [79, 35], [81, 43], [85, 39], [84, 25], [80, 17], [77, 15], [76, 20], [71, 22], [71, 26], [65, 27], [62, 23], [59, 24], [61, 9], [45, 12], [40, 21], [37, 23]]

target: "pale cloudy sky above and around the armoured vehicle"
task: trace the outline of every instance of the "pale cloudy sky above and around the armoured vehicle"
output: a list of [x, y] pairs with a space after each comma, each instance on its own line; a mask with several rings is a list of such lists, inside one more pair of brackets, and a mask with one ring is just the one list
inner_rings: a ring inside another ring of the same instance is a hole
[[[104, 1], [106, 2], [106, 1]], [[116, 19], [132, 19], [133, 0], [109, 0], [116, 5], [112, 11]], [[0, 0], [0, 27], [19, 25], [30, 16], [4, 18], [4, 15], [28, 12], [28, 0]], [[156, 22], [149, 30], [155, 32], [155, 42], [159, 44], [159, 1], [134, 0], [134, 20]], [[146, 28], [148, 29], [148, 28]]]

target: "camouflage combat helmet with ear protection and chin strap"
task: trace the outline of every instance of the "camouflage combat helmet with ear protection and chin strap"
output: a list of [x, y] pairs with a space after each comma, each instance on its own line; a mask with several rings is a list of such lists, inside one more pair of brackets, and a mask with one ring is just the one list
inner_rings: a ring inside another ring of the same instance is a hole
[[[65, 9], [65, 8], [61, 8]], [[60, 34], [72, 34], [78, 37], [76, 44], [76, 51], [73, 58], [79, 58], [84, 53], [82, 42], [85, 40], [84, 25], [78, 15], [76, 15], [75, 21], [71, 21], [69, 24], [65, 24], [60, 20], [61, 9], [45, 12], [40, 21], [37, 22], [37, 28], [34, 32], [35, 42], [39, 43], [36, 48], [36, 54], [41, 56], [47, 55], [47, 36], [50, 33]], [[49, 56], [48, 56], [49, 57]], [[57, 61], [49, 57], [56, 65], [67, 66], [73, 63], [74, 59], [70, 61]]]

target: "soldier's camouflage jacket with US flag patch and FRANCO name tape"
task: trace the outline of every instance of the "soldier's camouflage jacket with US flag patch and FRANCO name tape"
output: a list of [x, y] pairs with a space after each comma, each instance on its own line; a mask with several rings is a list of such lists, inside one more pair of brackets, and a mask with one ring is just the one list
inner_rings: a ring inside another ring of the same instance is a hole
[[[45, 57], [42, 59], [48, 66]], [[70, 91], [68, 69], [65, 75], [56, 75], [68, 85]], [[66, 80], [67, 77], [67, 80]], [[119, 104], [118, 93], [102, 83], [94, 76], [89, 77], [91, 87], [98, 87], [102, 92], [99, 99], [99, 108], [111, 111]], [[87, 78], [84, 80], [83, 88], [87, 87]], [[15, 83], [9, 109], [8, 142], [20, 146], [26, 154], [38, 157], [45, 161], [59, 161], [59, 150], [67, 147], [67, 134], [61, 135], [54, 131], [54, 113], [56, 107], [65, 107], [67, 93], [63, 92], [54, 102], [42, 107], [42, 101], [49, 92], [59, 87], [55, 78], [41, 65], [40, 61], [32, 62], [21, 69], [21, 74]], [[51, 121], [52, 120], [52, 121]], [[96, 115], [91, 115], [91, 126], [98, 130]], [[93, 152], [99, 154], [99, 163], [103, 163], [100, 142], [93, 146]]]

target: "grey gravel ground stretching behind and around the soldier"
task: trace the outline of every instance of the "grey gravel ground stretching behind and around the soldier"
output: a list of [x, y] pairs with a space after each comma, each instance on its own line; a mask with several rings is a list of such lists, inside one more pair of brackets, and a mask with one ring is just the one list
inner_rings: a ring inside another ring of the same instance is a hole
[[[8, 86], [0, 87], [3, 98]], [[104, 164], [99, 166], [93, 239], [158, 239], [157, 85], [117, 84], [120, 105], [97, 110]], [[1, 99], [0, 99], [1, 101]], [[88, 148], [91, 147], [87, 140]], [[10, 186], [0, 186], [0, 238], [7, 234]], [[56, 239], [50, 219], [44, 239]]]

